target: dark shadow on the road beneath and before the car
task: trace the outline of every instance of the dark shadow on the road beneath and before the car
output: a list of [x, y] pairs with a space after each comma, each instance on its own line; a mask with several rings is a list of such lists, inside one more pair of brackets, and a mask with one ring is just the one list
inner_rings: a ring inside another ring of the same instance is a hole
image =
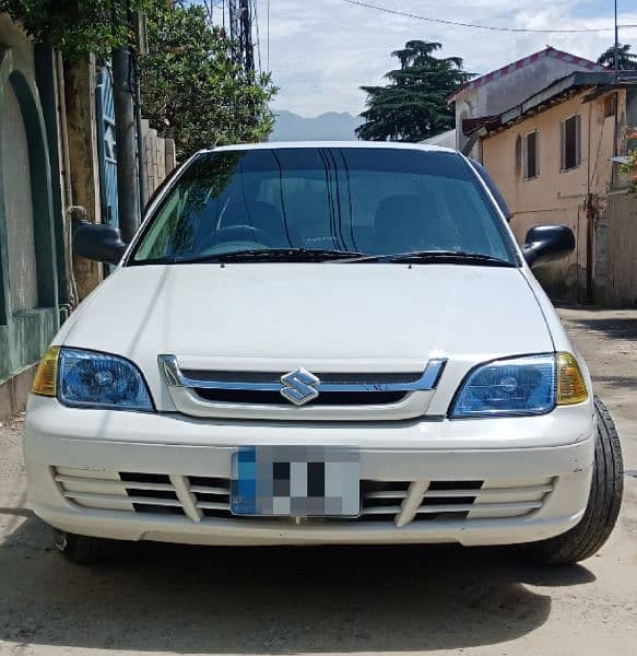
[[0, 544], [0, 641], [142, 652], [384, 652], [495, 644], [541, 626], [527, 584], [594, 581], [457, 547], [131, 544], [90, 569], [30, 518]]

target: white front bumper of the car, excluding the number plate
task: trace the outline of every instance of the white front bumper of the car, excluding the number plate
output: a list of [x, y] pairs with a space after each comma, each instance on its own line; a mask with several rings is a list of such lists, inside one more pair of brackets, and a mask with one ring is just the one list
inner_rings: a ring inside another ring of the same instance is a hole
[[[355, 446], [364, 487], [382, 490], [382, 502], [371, 494], [355, 520], [233, 517], [231, 456], [251, 444]], [[33, 397], [24, 450], [31, 506], [80, 535], [199, 544], [507, 544], [579, 522], [594, 419], [586, 403], [520, 419], [231, 423], [73, 410]]]

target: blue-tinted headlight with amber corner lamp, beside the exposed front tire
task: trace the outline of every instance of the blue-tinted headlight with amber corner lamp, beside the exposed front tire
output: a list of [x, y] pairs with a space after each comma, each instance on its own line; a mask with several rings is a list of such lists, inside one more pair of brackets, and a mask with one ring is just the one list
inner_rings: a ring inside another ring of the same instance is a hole
[[469, 373], [450, 417], [545, 414], [556, 405], [579, 403], [588, 391], [570, 353], [546, 353], [495, 360]]

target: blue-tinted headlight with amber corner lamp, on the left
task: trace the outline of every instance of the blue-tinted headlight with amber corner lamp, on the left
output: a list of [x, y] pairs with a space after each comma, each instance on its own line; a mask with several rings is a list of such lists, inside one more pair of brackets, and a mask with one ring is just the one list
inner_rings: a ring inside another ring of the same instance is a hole
[[64, 406], [153, 411], [146, 384], [132, 362], [82, 349], [49, 349], [32, 391], [57, 396]]

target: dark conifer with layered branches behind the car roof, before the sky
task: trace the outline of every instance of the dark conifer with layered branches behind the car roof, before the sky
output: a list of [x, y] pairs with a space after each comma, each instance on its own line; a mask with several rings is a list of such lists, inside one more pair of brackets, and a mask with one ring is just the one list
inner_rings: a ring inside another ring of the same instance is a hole
[[447, 98], [470, 74], [462, 70], [462, 59], [433, 55], [440, 44], [408, 42], [392, 57], [400, 69], [389, 71], [386, 86], [362, 86], [367, 93], [365, 121], [358, 139], [369, 141], [422, 141], [453, 127], [453, 112]]

